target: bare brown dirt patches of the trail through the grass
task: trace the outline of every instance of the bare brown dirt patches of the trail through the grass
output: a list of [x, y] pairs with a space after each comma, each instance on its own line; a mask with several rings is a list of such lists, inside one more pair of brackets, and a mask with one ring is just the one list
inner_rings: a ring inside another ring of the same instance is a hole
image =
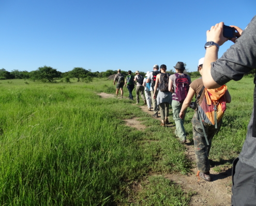
[[[102, 98], [115, 97], [113, 94], [100, 93]], [[146, 112], [150, 115], [153, 114], [153, 111], [148, 111], [147, 106], [139, 106], [143, 112]], [[160, 116], [160, 115], [159, 115]], [[161, 118], [152, 117], [155, 119], [159, 119], [159, 125]], [[144, 130], [146, 127], [137, 120], [137, 118], [133, 119], [124, 119], [126, 124], [130, 127], [134, 127], [136, 129]], [[171, 116], [169, 116], [170, 124], [167, 127], [173, 131], [175, 128], [174, 121]], [[232, 185], [232, 177], [231, 177], [231, 167], [225, 167], [220, 173], [217, 173], [210, 168], [210, 174], [212, 177], [211, 182], [207, 182], [200, 178], [198, 181], [197, 174], [197, 166], [195, 164], [195, 156], [194, 156], [194, 146], [188, 141], [186, 143], [186, 156], [193, 163], [192, 168], [190, 169], [190, 173], [187, 175], [182, 174], [165, 174], [165, 178], [178, 183], [183, 190], [185, 191], [194, 191], [197, 194], [193, 195], [189, 204], [191, 206], [229, 206], [231, 204], [231, 185]], [[159, 174], [152, 174], [159, 175]]]

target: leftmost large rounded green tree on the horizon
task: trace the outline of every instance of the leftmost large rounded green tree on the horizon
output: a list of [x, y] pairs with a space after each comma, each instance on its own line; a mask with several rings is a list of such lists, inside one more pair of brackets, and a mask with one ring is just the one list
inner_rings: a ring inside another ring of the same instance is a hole
[[31, 78], [34, 80], [54, 82], [54, 79], [60, 77], [61, 72], [58, 72], [56, 68], [46, 65], [38, 67], [36, 71], [31, 72]]

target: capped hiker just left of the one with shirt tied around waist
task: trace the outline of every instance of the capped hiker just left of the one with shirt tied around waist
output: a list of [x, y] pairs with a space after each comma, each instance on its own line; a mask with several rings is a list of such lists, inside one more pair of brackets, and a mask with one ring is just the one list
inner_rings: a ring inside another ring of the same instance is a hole
[[[154, 95], [154, 91], [155, 91], [155, 84], [156, 84], [156, 76], [160, 73], [159, 71], [159, 66], [157, 64], [155, 64], [153, 66], [153, 71], [150, 72], [148, 74], [148, 77], [147, 77], [147, 80], [146, 80], [146, 83], [151, 83], [151, 87], [150, 87], [150, 93], [151, 93], [151, 96], [153, 97]], [[156, 96], [158, 94], [158, 89], [156, 91]], [[152, 104], [153, 104], [153, 109], [154, 109], [154, 114], [153, 116], [154, 117], [158, 117], [158, 111], [159, 111], [159, 108], [158, 108], [158, 105], [157, 105], [157, 99], [154, 99], [152, 98]]]

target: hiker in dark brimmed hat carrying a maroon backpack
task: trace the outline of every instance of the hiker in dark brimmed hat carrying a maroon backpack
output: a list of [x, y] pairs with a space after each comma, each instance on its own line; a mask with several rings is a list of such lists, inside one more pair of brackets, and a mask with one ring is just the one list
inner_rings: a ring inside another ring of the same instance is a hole
[[179, 138], [181, 144], [187, 142], [186, 131], [184, 128], [184, 118], [179, 117], [180, 109], [182, 109], [183, 101], [185, 100], [191, 79], [187, 74], [184, 74], [185, 66], [183, 62], [178, 61], [175, 66], [176, 73], [170, 76], [169, 91], [172, 92], [172, 112], [173, 120], [175, 121], [175, 135]]

